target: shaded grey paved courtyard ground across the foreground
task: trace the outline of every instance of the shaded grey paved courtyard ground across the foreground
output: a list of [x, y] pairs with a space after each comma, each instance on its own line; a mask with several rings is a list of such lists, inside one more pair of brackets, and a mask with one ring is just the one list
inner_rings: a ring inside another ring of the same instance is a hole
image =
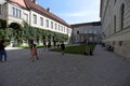
[[29, 49], [8, 51], [0, 62], [0, 86], [130, 86], [130, 61], [95, 47], [93, 56], [38, 49], [39, 60], [29, 59]]

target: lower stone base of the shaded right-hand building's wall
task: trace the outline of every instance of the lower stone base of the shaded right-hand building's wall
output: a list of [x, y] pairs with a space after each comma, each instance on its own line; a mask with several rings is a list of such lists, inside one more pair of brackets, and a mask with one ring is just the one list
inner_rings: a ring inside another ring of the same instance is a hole
[[103, 40], [105, 43], [114, 46], [114, 52], [126, 59], [130, 59], [130, 27], [112, 34]]

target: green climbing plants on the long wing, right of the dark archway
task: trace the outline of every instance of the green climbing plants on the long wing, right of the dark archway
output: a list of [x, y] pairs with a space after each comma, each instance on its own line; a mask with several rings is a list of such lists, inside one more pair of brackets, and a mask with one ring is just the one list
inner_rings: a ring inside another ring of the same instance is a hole
[[29, 40], [37, 40], [42, 39], [44, 41], [66, 41], [68, 40], [68, 35], [64, 33], [53, 32], [50, 30], [31, 27], [26, 22], [24, 22], [23, 28], [23, 38]]

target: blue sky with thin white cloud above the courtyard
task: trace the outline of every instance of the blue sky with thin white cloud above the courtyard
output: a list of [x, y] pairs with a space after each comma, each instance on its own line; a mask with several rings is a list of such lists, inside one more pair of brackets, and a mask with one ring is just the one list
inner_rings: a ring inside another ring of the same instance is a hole
[[100, 20], [100, 0], [37, 0], [42, 8], [68, 24], [81, 24]]

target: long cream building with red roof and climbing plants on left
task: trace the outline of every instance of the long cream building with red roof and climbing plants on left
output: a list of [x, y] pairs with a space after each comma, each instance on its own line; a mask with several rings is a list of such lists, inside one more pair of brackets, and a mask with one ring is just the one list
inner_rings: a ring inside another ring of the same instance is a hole
[[[51, 13], [50, 9], [47, 10], [40, 6], [37, 3], [37, 0], [1, 0], [0, 1], [0, 28], [13, 28], [17, 32], [17, 30], [22, 30], [23, 27], [27, 28], [24, 24], [27, 24], [27, 27], [35, 28], [36, 30], [39, 29], [39, 34], [43, 34], [41, 38], [32, 39], [32, 38], [25, 38], [22, 39], [23, 44], [27, 44], [28, 40], [34, 40], [35, 42], [39, 41], [42, 43], [43, 40], [48, 39], [49, 41], [66, 41], [69, 42], [69, 38], [72, 34], [70, 26], [56, 16], [55, 14]], [[42, 31], [43, 30], [43, 31]], [[13, 34], [21, 34], [21, 32]], [[35, 32], [35, 31], [34, 31]], [[50, 34], [50, 32], [53, 32]], [[23, 32], [22, 32], [23, 33]], [[26, 33], [26, 29], [25, 32]], [[31, 30], [29, 31], [29, 35], [31, 35]], [[37, 33], [37, 34], [38, 34]], [[67, 40], [58, 40], [63, 39], [62, 35], [57, 33], [66, 35], [65, 39]], [[17, 41], [18, 37], [13, 37], [11, 42]], [[34, 34], [32, 34], [34, 35]], [[22, 35], [24, 37], [24, 34]], [[40, 35], [39, 35], [40, 37]], [[50, 39], [49, 39], [50, 38]]]

